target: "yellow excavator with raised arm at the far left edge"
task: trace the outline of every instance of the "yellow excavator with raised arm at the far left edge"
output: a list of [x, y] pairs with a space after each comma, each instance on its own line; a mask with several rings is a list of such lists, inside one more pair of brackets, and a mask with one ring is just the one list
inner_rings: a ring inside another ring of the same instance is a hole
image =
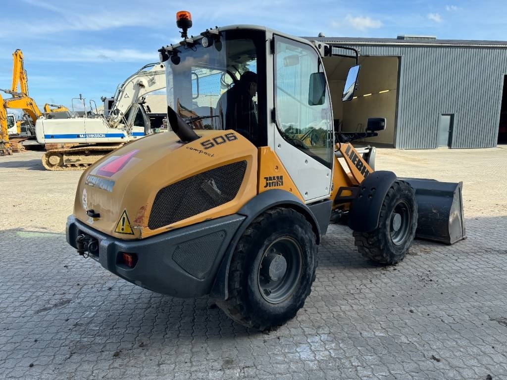
[[16, 108], [24, 112], [28, 117], [26, 122], [31, 124], [27, 129], [31, 129], [31, 133], [29, 134], [33, 136], [35, 135], [35, 121], [42, 116], [41, 110], [28, 95], [28, 80], [23, 66], [23, 53], [20, 49], [16, 49], [12, 57], [13, 70], [11, 89], [0, 89], [0, 91], [11, 95], [11, 98], [8, 99], [4, 99], [2, 95], [0, 95], [0, 155], [2, 156], [11, 155], [13, 151], [24, 150], [21, 141], [28, 138], [28, 136], [21, 135], [11, 135], [11, 137], [9, 137], [7, 109]]

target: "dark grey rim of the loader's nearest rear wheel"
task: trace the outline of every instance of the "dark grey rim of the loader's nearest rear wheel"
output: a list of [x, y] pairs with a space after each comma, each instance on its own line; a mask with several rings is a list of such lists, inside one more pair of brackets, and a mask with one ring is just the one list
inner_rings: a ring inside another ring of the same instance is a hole
[[303, 252], [291, 237], [281, 237], [263, 252], [257, 282], [262, 297], [270, 303], [288, 299], [299, 285]]

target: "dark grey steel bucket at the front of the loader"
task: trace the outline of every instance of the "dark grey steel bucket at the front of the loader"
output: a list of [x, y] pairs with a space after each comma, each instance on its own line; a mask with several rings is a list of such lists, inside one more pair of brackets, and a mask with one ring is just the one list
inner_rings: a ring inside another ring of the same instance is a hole
[[416, 238], [453, 244], [465, 239], [461, 190], [463, 182], [403, 178], [415, 190], [418, 218]]

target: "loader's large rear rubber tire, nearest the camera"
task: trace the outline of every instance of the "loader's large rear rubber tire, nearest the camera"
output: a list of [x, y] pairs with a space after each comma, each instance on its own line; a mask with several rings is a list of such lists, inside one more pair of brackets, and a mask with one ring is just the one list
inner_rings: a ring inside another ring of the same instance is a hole
[[[285, 247], [284, 244], [293, 249], [275, 251], [272, 248]], [[284, 324], [296, 316], [310, 294], [317, 268], [317, 249], [312, 226], [303, 215], [287, 208], [264, 212], [253, 220], [238, 241], [229, 271], [229, 298], [218, 301], [217, 305], [234, 321], [261, 331]], [[266, 281], [271, 284], [271, 278], [266, 280], [263, 275], [271, 268], [266, 265], [270, 252], [271, 255], [284, 252], [282, 256], [287, 258], [286, 271], [278, 280], [279, 284], [284, 281], [293, 284], [285, 293], [276, 288], [268, 293], [265, 289]], [[261, 263], [265, 264], [264, 269]], [[277, 292], [282, 294], [280, 299], [270, 300]]]

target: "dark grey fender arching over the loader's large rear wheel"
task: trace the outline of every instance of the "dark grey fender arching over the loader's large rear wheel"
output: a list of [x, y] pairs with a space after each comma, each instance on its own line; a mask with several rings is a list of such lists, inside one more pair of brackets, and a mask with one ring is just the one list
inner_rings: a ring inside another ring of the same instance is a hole
[[[234, 249], [236, 248], [236, 244], [239, 239], [247, 229], [247, 227], [251, 224], [253, 219], [258, 217], [264, 211], [276, 207], [276, 206], [286, 206], [289, 208], [293, 208], [303, 214], [306, 219], [311, 223], [313, 227], [313, 232], [316, 236], [317, 244], [320, 244], [320, 228], [319, 223], [312, 213], [310, 208], [305, 205], [299, 198], [297, 198], [292, 193], [289, 193], [285, 190], [281, 189], [272, 189], [257, 196], [253, 197], [249, 200], [237, 213], [240, 215], [246, 216], [241, 225], [236, 230], [233, 239], [229, 243], [229, 247], [227, 248], [224, 258], [222, 259], [222, 263], [219, 267], [218, 272], [216, 273], [215, 281], [213, 283], [213, 287], [211, 288], [210, 296], [216, 299], [227, 299], [229, 297], [228, 290], [228, 279], [229, 279], [229, 267], [231, 264], [232, 255], [234, 253]], [[331, 205], [330, 205], [331, 212]], [[326, 225], [327, 227], [327, 225]]]

